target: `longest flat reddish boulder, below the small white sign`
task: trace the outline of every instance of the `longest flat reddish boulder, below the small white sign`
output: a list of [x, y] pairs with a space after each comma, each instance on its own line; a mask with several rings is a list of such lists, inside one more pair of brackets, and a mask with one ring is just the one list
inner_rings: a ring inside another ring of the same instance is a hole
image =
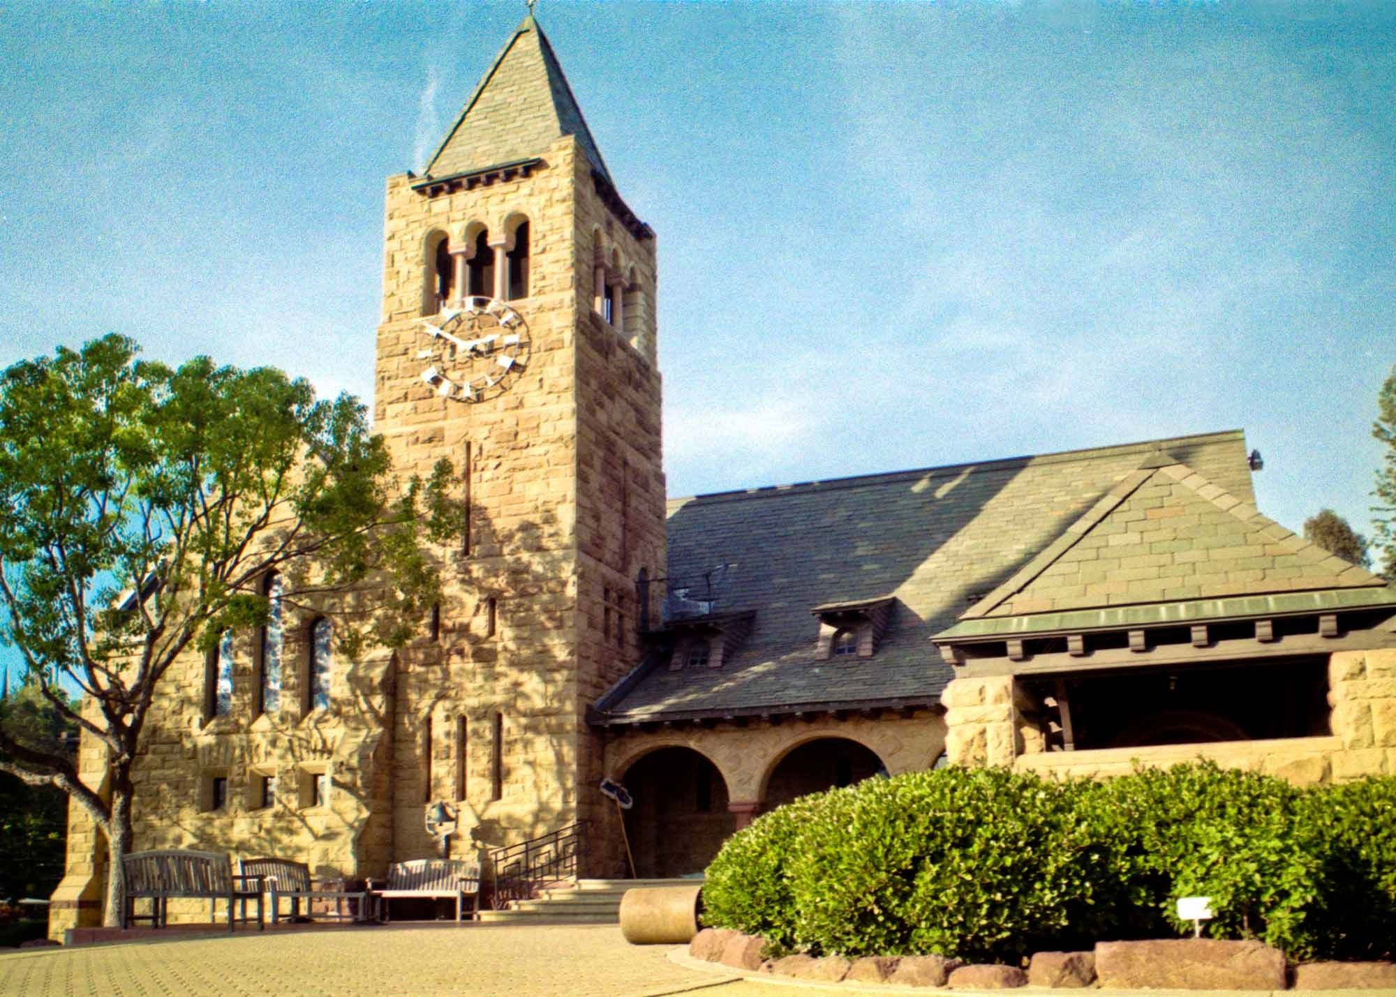
[[1259, 941], [1175, 938], [1101, 941], [1101, 987], [1154, 990], [1284, 990], [1284, 954]]

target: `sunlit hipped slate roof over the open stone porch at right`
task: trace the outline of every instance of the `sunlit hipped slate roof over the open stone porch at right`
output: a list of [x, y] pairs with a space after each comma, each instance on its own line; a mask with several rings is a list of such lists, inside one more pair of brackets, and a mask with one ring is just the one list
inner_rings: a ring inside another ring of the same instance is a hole
[[1382, 586], [1160, 451], [960, 620]]

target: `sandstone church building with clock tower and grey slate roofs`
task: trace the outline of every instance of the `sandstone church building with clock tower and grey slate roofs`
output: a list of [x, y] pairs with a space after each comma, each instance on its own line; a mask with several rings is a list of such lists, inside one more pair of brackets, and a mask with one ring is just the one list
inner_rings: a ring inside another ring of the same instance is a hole
[[[878, 772], [1396, 772], [1396, 592], [1256, 510], [1240, 430], [667, 498], [655, 232], [532, 18], [388, 179], [384, 239], [376, 430], [403, 475], [458, 469], [445, 598], [360, 660], [289, 609], [191, 653], [138, 849], [381, 876], [440, 855], [443, 800], [455, 857], [581, 825], [585, 874], [628, 839], [681, 876]], [[103, 862], [73, 808], [54, 937], [99, 917]]]

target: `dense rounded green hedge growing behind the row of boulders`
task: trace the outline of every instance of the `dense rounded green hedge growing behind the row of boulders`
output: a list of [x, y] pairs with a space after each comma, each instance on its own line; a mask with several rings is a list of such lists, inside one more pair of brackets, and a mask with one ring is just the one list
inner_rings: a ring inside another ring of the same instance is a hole
[[1012, 959], [1189, 930], [1295, 958], [1392, 954], [1396, 779], [1337, 788], [1212, 764], [1107, 782], [914, 772], [807, 796], [734, 835], [705, 923], [815, 954]]

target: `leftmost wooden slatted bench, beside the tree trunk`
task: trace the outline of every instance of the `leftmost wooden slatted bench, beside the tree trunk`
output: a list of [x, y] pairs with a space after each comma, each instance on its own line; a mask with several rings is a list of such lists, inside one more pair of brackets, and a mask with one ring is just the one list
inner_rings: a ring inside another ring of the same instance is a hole
[[[121, 856], [124, 880], [121, 899], [121, 927], [138, 920], [152, 927], [165, 927], [168, 903], [176, 899], [207, 899], [209, 920], [218, 920], [218, 901], [228, 903], [228, 930], [233, 930], [233, 905], [242, 905], [242, 920], [247, 920], [247, 901], [257, 903], [257, 930], [262, 930], [261, 882], [255, 877], [233, 876], [233, 863], [216, 852], [131, 852]], [[151, 901], [151, 913], [137, 915], [135, 902]]]

